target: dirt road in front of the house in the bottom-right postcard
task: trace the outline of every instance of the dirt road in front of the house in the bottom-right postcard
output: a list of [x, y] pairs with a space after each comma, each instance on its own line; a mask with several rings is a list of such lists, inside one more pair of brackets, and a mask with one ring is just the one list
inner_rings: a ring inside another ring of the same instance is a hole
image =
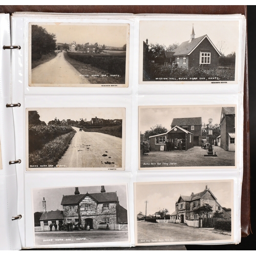
[[227, 232], [189, 227], [185, 224], [152, 223], [147, 221], [137, 221], [137, 235], [139, 244], [231, 239], [231, 233]]

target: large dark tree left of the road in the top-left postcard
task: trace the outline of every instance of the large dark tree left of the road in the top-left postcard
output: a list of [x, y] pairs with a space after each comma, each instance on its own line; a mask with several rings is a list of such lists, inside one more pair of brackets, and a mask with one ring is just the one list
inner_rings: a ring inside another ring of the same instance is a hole
[[55, 34], [48, 33], [46, 29], [38, 26], [31, 26], [31, 52], [32, 60], [41, 58], [55, 50]]

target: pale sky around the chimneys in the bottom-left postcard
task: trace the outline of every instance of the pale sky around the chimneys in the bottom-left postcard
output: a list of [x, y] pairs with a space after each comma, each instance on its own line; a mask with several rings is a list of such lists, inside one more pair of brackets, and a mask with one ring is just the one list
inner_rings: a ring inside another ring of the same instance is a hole
[[[117, 192], [119, 203], [125, 209], [127, 209], [126, 201], [126, 186], [125, 185], [113, 185], [104, 186], [106, 192]], [[78, 186], [80, 194], [100, 193], [101, 186]], [[33, 212], [42, 211], [42, 200], [46, 200], [46, 210], [62, 210], [60, 205], [63, 195], [74, 195], [75, 187], [58, 187], [58, 188], [40, 188], [33, 190]]]

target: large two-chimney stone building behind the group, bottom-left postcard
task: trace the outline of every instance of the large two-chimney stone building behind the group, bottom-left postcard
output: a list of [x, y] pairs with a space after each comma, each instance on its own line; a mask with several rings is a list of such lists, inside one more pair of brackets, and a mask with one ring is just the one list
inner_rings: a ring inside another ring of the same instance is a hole
[[93, 194], [80, 194], [76, 187], [74, 195], [63, 195], [61, 205], [65, 223], [89, 225], [90, 229], [98, 228], [98, 224], [127, 223], [127, 210], [119, 205], [117, 193], [106, 193], [104, 186]]

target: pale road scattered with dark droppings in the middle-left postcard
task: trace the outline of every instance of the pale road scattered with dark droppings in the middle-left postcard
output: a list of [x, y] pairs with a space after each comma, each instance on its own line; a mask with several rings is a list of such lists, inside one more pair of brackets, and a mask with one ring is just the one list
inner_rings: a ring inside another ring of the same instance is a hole
[[77, 127], [73, 129], [77, 133], [58, 165], [86, 168], [122, 167], [121, 138], [103, 133], [79, 132]]

